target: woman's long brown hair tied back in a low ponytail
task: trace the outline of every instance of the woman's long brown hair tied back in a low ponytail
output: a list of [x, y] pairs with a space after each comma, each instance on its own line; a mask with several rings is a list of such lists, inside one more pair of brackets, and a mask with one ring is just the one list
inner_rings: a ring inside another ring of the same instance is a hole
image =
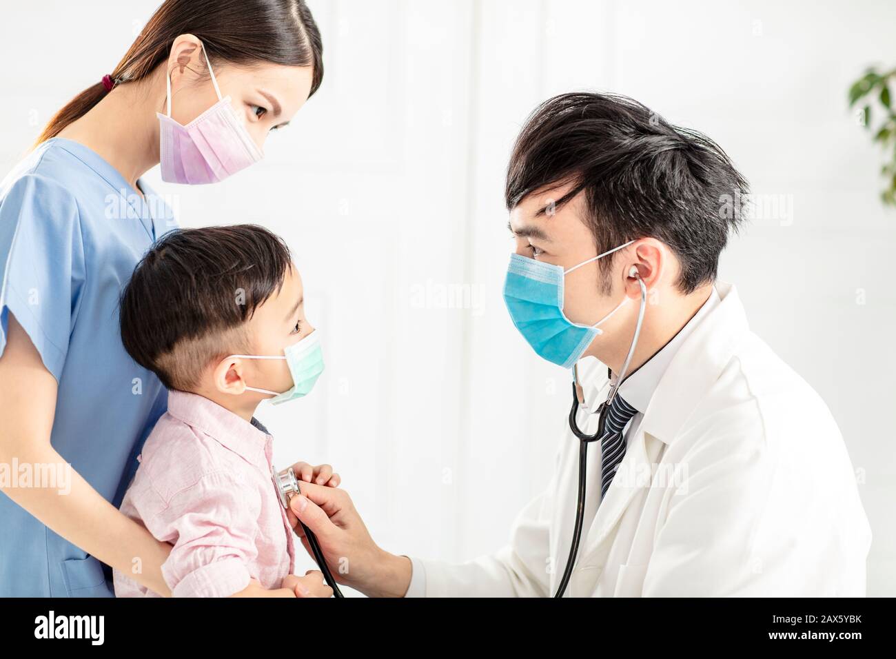
[[[323, 42], [304, 0], [165, 0], [109, 77], [115, 84], [142, 80], [168, 61], [171, 44], [182, 34], [200, 39], [212, 64], [312, 66], [308, 96], [321, 86]], [[107, 93], [101, 82], [104, 73], [97, 73], [97, 82], [56, 112], [35, 146], [102, 100]]]

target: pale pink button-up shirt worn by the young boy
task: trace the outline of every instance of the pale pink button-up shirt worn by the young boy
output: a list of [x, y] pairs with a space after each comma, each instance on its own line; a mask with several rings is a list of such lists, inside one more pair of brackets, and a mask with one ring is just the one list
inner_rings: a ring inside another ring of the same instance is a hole
[[[293, 531], [271, 481], [271, 443], [254, 419], [200, 395], [168, 394], [121, 511], [174, 545], [162, 575], [175, 597], [226, 597], [250, 577], [279, 588], [292, 573]], [[159, 596], [116, 569], [113, 579], [117, 597]]]

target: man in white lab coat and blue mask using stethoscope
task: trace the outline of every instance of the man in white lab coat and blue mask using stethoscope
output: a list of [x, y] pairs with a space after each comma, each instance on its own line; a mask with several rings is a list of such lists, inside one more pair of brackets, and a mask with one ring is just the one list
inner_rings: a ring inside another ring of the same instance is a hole
[[579, 369], [573, 413], [599, 434], [581, 544], [569, 431], [510, 542], [459, 565], [379, 549], [345, 491], [307, 485], [293, 512], [334, 572], [349, 559], [337, 578], [392, 596], [864, 595], [871, 532], [837, 424], [716, 279], [746, 192], [718, 145], [640, 103], [542, 104], [507, 175], [504, 297], [540, 356], [603, 364]]

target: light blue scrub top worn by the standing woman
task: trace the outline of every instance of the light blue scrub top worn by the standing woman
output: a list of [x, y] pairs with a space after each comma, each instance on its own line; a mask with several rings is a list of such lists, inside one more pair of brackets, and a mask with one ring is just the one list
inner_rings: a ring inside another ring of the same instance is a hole
[[[59, 386], [53, 447], [116, 507], [167, 403], [118, 333], [123, 286], [176, 226], [168, 204], [138, 185], [145, 200], [98, 153], [60, 137], [0, 183], [0, 353], [12, 312]], [[108, 566], [4, 493], [0, 520], [0, 596], [114, 596]]]

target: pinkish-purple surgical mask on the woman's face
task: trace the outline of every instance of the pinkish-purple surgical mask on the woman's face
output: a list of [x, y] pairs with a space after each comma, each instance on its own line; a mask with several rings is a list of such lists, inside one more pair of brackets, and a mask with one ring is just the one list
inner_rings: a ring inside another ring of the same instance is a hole
[[217, 183], [261, 160], [264, 155], [243, 121], [237, 117], [230, 97], [221, 98], [218, 81], [211, 71], [211, 62], [204, 46], [202, 54], [209, 65], [211, 84], [215, 86], [218, 102], [186, 126], [181, 126], [171, 118], [171, 75], [168, 74], [168, 115], [156, 113], [159, 117], [162, 180], [168, 183], [194, 186]]

